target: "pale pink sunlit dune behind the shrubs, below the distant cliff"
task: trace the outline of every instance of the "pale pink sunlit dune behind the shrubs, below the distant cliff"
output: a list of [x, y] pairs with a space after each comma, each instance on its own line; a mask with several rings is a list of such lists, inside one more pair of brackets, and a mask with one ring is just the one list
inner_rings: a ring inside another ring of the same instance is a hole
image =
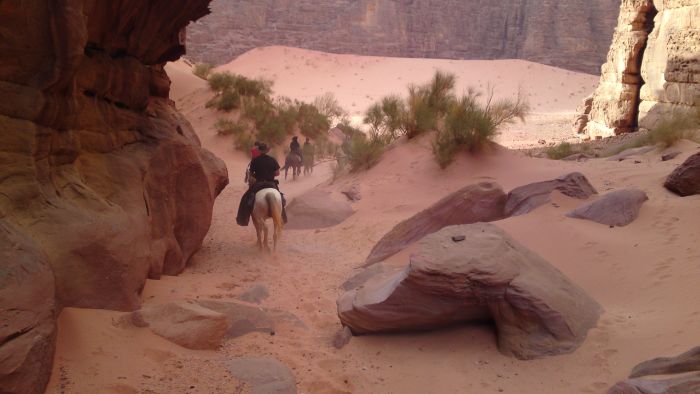
[[468, 87], [486, 93], [491, 86], [495, 97], [502, 98], [514, 97], [522, 88], [533, 114], [526, 124], [504, 130], [499, 143], [509, 147], [570, 139], [573, 112], [598, 83], [594, 75], [525, 60], [387, 58], [278, 46], [251, 50], [217, 70], [271, 79], [276, 94], [308, 102], [332, 92], [356, 122], [373, 102], [389, 94], [406, 95], [409, 84], [427, 82], [435, 70], [454, 73], [458, 93]]

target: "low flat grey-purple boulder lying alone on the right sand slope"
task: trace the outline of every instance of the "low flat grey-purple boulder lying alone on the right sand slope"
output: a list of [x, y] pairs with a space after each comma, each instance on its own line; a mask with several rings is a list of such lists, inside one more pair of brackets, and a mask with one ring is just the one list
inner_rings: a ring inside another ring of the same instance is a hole
[[626, 226], [637, 219], [642, 204], [648, 199], [647, 194], [638, 189], [616, 190], [574, 209], [566, 216], [609, 226]]

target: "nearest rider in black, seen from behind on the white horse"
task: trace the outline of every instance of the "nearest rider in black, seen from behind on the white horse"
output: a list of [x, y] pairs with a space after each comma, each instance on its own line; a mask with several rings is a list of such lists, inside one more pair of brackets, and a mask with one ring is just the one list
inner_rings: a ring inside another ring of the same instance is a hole
[[[277, 160], [269, 156], [267, 152], [269, 148], [265, 143], [260, 143], [258, 145], [258, 151], [260, 155], [254, 158], [249, 165], [250, 173], [250, 186], [243, 197], [241, 197], [241, 203], [238, 205], [238, 215], [236, 216], [236, 223], [239, 226], [247, 226], [250, 221], [250, 214], [253, 212], [253, 206], [255, 205], [255, 194], [262, 189], [273, 188], [279, 191], [279, 181], [275, 179], [276, 176], [280, 174], [280, 165]], [[280, 193], [282, 194], [282, 193]], [[284, 222], [287, 222], [287, 213], [284, 209], [285, 200], [282, 194], [282, 218]]]

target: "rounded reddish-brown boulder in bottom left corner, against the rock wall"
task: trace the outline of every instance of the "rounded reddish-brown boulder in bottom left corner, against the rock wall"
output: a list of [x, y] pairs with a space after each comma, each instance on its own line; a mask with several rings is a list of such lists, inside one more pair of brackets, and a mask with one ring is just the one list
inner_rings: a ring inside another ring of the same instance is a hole
[[43, 393], [56, 342], [48, 257], [0, 219], [0, 264], [0, 392]]

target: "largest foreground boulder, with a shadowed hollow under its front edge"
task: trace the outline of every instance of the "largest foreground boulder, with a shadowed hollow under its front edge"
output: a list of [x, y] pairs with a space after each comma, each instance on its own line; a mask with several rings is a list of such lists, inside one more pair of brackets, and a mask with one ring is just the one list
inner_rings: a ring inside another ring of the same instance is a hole
[[418, 243], [404, 270], [338, 299], [354, 334], [493, 320], [498, 347], [531, 359], [574, 351], [601, 307], [542, 257], [488, 223], [450, 226]]

